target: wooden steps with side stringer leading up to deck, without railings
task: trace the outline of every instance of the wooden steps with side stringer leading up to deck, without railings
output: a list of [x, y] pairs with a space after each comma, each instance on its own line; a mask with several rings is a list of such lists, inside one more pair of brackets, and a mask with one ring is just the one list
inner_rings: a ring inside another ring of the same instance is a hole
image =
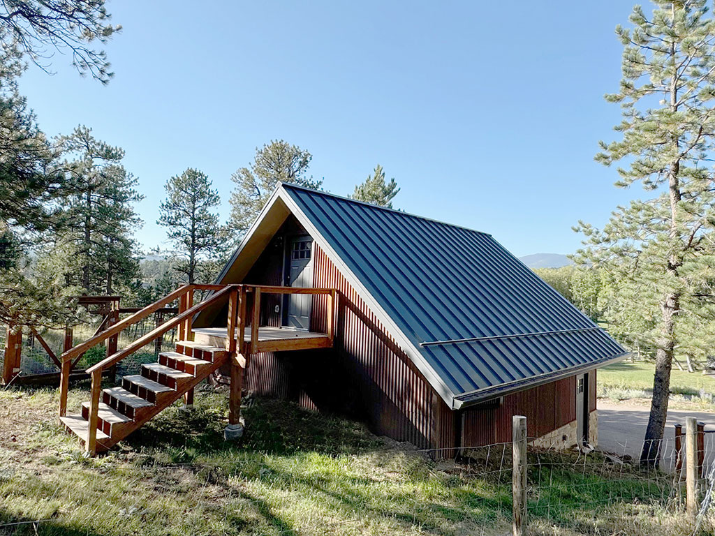
[[[102, 391], [97, 412], [97, 452], [117, 442], [194, 389], [224, 364], [225, 348], [179, 341], [175, 352], [161, 352], [156, 363], [142, 364], [140, 374], [122, 378], [122, 387]], [[68, 432], [84, 444], [89, 432], [89, 402], [82, 412], [60, 417]]]

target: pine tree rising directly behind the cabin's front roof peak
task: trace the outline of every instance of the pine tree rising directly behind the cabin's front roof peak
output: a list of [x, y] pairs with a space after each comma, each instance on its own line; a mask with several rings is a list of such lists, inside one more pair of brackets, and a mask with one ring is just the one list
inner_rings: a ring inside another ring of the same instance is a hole
[[310, 159], [309, 152], [276, 140], [256, 149], [256, 157], [250, 167], [237, 169], [231, 177], [236, 187], [231, 194], [228, 225], [235, 232], [236, 240], [251, 227], [279, 181], [320, 189], [322, 180], [305, 176]]

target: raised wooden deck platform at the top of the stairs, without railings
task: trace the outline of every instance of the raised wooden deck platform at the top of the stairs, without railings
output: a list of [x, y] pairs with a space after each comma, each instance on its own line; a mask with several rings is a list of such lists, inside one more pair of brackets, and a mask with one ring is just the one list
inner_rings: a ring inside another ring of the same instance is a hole
[[[227, 329], [225, 327], [200, 327], [192, 329], [194, 340], [210, 346], [223, 347], [226, 344]], [[244, 340], [251, 347], [251, 328], [247, 326]], [[287, 350], [305, 350], [312, 348], [329, 348], [332, 346], [330, 337], [325, 333], [307, 332], [295, 327], [258, 328], [257, 352], [282, 352]], [[244, 354], [250, 353], [245, 349]]]

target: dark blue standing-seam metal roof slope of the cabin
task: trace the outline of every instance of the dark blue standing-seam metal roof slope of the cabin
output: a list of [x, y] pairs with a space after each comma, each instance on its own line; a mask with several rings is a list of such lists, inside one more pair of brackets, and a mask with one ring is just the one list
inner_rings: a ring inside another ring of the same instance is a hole
[[282, 188], [455, 397], [626, 354], [490, 234]]

